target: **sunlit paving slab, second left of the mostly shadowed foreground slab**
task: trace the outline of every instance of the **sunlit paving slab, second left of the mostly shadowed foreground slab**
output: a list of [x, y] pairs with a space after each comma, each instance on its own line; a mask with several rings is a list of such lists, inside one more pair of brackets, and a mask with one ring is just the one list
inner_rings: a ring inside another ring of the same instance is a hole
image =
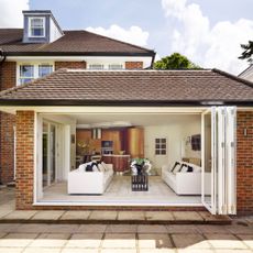
[[107, 249], [135, 249], [136, 248], [136, 239], [134, 233], [121, 233], [121, 234], [112, 234], [107, 233], [102, 248]]

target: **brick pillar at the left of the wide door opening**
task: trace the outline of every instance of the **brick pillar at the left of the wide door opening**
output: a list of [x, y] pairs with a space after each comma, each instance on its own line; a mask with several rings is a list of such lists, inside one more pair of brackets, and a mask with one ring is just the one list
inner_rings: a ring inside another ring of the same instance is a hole
[[34, 112], [16, 112], [16, 209], [32, 209], [34, 175]]

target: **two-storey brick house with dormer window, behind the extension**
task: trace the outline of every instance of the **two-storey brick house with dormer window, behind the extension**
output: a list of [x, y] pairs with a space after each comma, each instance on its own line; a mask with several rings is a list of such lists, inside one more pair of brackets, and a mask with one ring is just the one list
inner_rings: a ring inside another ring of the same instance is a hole
[[[51, 11], [23, 11], [23, 29], [0, 29], [0, 87], [13, 88], [59, 68], [140, 69], [155, 53], [84, 30], [62, 30]], [[15, 117], [1, 113], [0, 184], [13, 180]]]

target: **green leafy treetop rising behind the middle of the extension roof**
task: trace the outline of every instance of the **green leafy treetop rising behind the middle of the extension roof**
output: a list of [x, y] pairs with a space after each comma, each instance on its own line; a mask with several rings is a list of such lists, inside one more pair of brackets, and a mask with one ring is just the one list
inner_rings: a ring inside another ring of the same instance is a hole
[[186, 56], [174, 53], [155, 62], [155, 69], [199, 69], [200, 67], [190, 62]]

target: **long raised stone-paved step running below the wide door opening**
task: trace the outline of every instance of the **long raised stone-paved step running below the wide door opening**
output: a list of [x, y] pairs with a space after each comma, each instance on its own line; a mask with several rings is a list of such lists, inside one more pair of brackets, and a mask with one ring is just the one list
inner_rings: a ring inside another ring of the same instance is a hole
[[23, 211], [0, 216], [0, 223], [56, 224], [231, 224], [228, 216], [206, 211]]

